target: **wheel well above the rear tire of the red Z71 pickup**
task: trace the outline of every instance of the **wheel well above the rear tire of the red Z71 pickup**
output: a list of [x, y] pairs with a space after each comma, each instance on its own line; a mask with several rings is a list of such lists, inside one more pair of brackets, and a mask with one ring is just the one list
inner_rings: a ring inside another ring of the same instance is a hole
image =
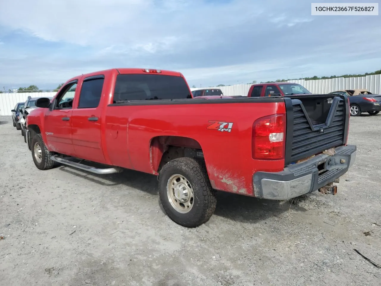
[[152, 138], [150, 161], [155, 172], [169, 161], [181, 157], [191, 157], [203, 161], [203, 152], [199, 142], [180, 136], [157, 136]]

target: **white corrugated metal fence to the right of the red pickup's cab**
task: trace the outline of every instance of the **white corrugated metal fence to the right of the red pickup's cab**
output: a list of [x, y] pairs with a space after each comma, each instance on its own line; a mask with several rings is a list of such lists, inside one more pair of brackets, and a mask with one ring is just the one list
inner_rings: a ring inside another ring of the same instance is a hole
[[[372, 93], [381, 94], [381, 74], [365, 77], [337, 77], [335, 79], [317, 79], [317, 80], [288, 80], [301, 84], [312, 93], [324, 94], [334, 92], [336, 90], [365, 88]], [[227, 96], [246, 96], [249, 92], [251, 84], [236, 84], [224, 87], [208, 87], [219, 88], [224, 95]], [[203, 89], [205, 87], [191, 88], [191, 90]]]

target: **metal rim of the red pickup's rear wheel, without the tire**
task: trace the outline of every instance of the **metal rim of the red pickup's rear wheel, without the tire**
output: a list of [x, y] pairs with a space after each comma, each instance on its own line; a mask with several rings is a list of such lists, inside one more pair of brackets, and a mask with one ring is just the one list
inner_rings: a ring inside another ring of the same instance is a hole
[[194, 202], [193, 188], [185, 176], [174, 174], [168, 179], [167, 196], [176, 211], [181, 214], [191, 211]]

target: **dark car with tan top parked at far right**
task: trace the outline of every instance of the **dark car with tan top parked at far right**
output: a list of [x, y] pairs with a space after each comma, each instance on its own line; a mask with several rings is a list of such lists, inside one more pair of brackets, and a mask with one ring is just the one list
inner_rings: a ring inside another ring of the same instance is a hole
[[368, 112], [370, 115], [376, 115], [381, 111], [381, 95], [372, 94], [370, 92], [359, 93], [358, 95], [351, 95], [351, 93], [342, 90], [331, 93], [345, 93], [349, 95], [351, 116], [359, 116], [362, 112]]

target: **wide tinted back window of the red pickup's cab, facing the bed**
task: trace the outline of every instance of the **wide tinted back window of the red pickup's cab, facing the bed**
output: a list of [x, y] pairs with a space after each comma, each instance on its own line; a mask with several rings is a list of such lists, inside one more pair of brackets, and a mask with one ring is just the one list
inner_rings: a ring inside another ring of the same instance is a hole
[[114, 103], [126, 100], [162, 100], [191, 98], [182, 77], [160, 74], [119, 74], [115, 83]]

